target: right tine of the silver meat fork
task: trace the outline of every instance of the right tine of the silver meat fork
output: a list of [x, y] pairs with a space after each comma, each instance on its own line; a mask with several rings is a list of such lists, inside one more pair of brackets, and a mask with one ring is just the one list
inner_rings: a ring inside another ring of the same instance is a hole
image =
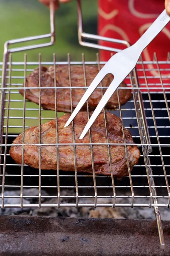
[[[124, 80], [125, 78], [123, 78]], [[108, 103], [109, 99], [111, 98], [114, 91], [117, 89], [119, 84], [122, 83], [122, 78], [114, 77], [113, 81], [111, 82], [110, 86], [106, 90], [105, 94], [103, 95], [102, 99], [98, 103], [94, 113], [92, 114], [91, 118], [89, 119], [88, 123], [86, 124], [84, 130], [82, 131], [82, 134], [80, 135], [79, 139], [83, 139], [85, 137], [85, 134], [88, 132], [88, 130], [91, 128], [91, 125], [96, 120], [97, 116], [99, 116], [99, 113], [102, 111], [103, 108], [105, 108], [105, 105]]]

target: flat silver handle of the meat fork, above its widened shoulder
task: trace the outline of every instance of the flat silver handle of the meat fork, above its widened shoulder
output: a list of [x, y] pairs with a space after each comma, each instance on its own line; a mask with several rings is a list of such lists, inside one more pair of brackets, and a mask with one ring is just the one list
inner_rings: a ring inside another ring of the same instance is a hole
[[161, 30], [170, 21], [170, 15], [167, 14], [166, 10], [157, 17], [157, 19], [152, 23], [152, 25], [147, 29], [146, 32], [139, 38], [135, 43], [136, 48], [142, 52], [148, 44], [156, 37], [156, 35], [161, 32]]

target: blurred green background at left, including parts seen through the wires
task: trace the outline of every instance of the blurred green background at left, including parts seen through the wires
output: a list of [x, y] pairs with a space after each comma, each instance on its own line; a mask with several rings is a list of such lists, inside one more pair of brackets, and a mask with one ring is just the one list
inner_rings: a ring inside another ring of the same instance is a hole
[[[82, 0], [82, 10], [84, 31], [97, 34], [97, 0]], [[50, 32], [49, 9], [43, 6], [38, 0], [0, 0], [0, 24], [0, 60], [2, 61], [3, 45], [7, 40], [42, 35]], [[59, 9], [55, 12], [55, 25], [55, 45], [27, 51], [27, 61], [38, 61], [39, 52], [42, 54], [42, 61], [53, 61], [53, 53], [56, 53], [57, 61], [67, 61], [68, 52], [71, 54], [72, 61], [81, 61], [82, 52], [85, 53], [86, 61], [96, 60], [95, 49], [82, 47], [78, 43], [76, 0], [72, 0], [70, 3], [60, 4]], [[46, 41], [49, 41], [49, 39], [17, 44], [16, 47]], [[13, 53], [12, 61], [24, 61], [24, 52]], [[37, 66], [27, 66], [28, 69], [34, 69], [35, 67]], [[12, 66], [12, 69], [16, 68], [23, 69], [23, 66]], [[30, 72], [28, 71], [27, 75], [28, 73]], [[17, 84], [19, 87], [22, 87], [23, 78], [16, 79], [16, 76], [23, 77], [24, 72], [12, 71], [11, 75], [11, 84]], [[5, 116], [7, 116], [9, 96], [8, 90], [6, 92]], [[18, 99], [20, 102], [16, 102]], [[19, 134], [23, 131], [23, 96], [18, 93], [18, 90], [11, 90], [9, 108], [8, 133]], [[42, 123], [55, 118], [54, 111], [42, 110], [41, 112]], [[39, 125], [39, 106], [37, 104], [26, 101], [25, 114], [26, 128]], [[58, 116], [62, 114], [58, 113]], [[31, 117], [34, 119], [31, 119]], [[6, 125], [7, 119], [5, 118], [4, 121]]]

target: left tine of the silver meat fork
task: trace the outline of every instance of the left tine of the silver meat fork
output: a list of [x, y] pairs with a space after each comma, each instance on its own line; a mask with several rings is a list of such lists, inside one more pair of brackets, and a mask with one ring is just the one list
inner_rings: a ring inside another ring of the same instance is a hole
[[[108, 63], [107, 63], [108, 64]], [[92, 81], [91, 85], [88, 87], [86, 90], [85, 94], [82, 96], [82, 99], [80, 99], [79, 104], [77, 107], [74, 109], [73, 113], [71, 114], [70, 118], [66, 122], [64, 127], [67, 127], [74, 119], [75, 116], [77, 116], [77, 113], [80, 111], [82, 106], [85, 104], [85, 102], [88, 100], [88, 98], [91, 96], [91, 94], [94, 92], [96, 87], [99, 85], [99, 83], [102, 81], [102, 79], [108, 74], [108, 68], [107, 65], [105, 64], [104, 67], [99, 71], [97, 76], [94, 78]]]

